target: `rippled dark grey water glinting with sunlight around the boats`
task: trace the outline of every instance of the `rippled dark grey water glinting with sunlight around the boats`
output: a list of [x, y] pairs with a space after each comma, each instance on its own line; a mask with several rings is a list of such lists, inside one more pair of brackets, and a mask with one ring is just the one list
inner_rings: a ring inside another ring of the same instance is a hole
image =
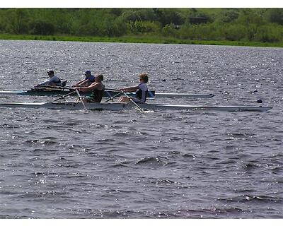
[[[0, 218], [282, 218], [283, 49], [1, 40], [0, 53], [1, 90], [26, 90], [50, 69], [69, 84], [101, 72], [112, 88], [146, 72], [159, 92], [216, 94], [158, 102], [274, 106], [1, 108]], [[54, 97], [0, 97], [16, 100]]]

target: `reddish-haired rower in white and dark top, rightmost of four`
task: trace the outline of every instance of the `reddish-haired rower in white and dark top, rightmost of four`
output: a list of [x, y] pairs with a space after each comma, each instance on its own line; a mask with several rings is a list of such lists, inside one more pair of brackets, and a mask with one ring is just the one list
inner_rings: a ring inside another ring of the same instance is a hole
[[[146, 102], [146, 97], [149, 93], [149, 90], [147, 89], [146, 83], [149, 81], [149, 76], [146, 73], [141, 73], [139, 75], [139, 85], [128, 87], [128, 88], [122, 88], [124, 92], [136, 92], [136, 97], [132, 97], [132, 100], [137, 103], [144, 103]], [[118, 102], [128, 102], [128, 97], [120, 97]]]

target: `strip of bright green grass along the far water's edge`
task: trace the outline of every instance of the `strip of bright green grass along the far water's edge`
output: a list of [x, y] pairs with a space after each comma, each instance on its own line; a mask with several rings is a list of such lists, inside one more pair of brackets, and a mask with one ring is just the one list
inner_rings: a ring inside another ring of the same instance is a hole
[[226, 40], [180, 40], [171, 37], [155, 36], [122, 36], [122, 37], [78, 37], [57, 35], [8, 35], [0, 34], [0, 40], [50, 40], [71, 42], [127, 42], [127, 43], [160, 43], [160, 44], [210, 44], [247, 47], [283, 47], [282, 42], [241, 42]]

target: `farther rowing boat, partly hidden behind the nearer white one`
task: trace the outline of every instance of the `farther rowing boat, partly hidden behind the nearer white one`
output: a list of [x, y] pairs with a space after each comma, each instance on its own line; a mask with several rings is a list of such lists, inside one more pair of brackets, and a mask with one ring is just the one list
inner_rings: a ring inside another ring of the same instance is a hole
[[[0, 95], [37, 95], [37, 96], [56, 96], [56, 95], [67, 95], [68, 93], [74, 91], [74, 89], [31, 89], [31, 90], [18, 90], [18, 91], [0, 91]], [[76, 95], [72, 93], [71, 95]], [[91, 95], [90, 92], [80, 92], [80, 95], [87, 96]], [[120, 91], [115, 90], [105, 90], [103, 97], [111, 98], [113, 96], [120, 97], [123, 94]], [[127, 93], [127, 95], [133, 97], [135, 93]], [[147, 95], [148, 98], [154, 97], [190, 97], [190, 98], [211, 98], [214, 97], [213, 94], [207, 93], [156, 93], [154, 90], [149, 90]]]

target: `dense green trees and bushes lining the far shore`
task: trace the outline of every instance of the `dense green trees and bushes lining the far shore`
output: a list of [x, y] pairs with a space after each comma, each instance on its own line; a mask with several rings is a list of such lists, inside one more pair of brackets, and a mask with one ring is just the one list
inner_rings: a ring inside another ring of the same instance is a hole
[[0, 33], [283, 42], [283, 8], [1, 8]]

